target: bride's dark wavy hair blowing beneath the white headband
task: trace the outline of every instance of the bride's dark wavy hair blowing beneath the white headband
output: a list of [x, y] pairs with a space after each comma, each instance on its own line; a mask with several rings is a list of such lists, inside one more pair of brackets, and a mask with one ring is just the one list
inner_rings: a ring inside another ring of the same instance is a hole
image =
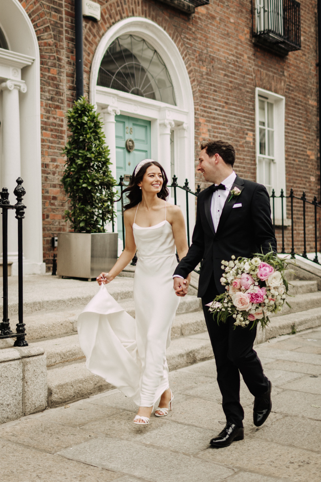
[[159, 169], [161, 170], [161, 173], [163, 175], [163, 185], [162, 185], [161, 190], [157, 193], [157, 197], [159, 199], [163, 199], [164, 201], [167, 200], [167, 196], [169, 194], [169, 191], [167, 189], [168, 179], [167, 179], [166, 172], [164, 171], [163, 167], [160, 165], [159, 162], [157, 162], [157, 161], [146, 162], [146, 164], [141, 166], [141, 169], [138, 171], [138, 173], [136, 175], [135, 175], [135, 169], [136, 169], [136, 167], [135, 167], [134, 172], [133, 172], [133, 174], [131, 176], [131, 179], [130, 179], [130, 183], [128, 184], [128, 187], [126, 187], [123, 190], [120, 198], [115, 201], [115, 202], [120, 201], [122, 199], [122, 197], [124, 196], [124, 194], [126, 194], [126, 198], [128, 199], [129, 202], [127, 202], [126, 204], [124, 202], [124, 211], [126, 211], [126, 209], [130, 209], [134, 206], [137, 206], [137, 204], [139, 202], [141, 202], [141, 189], [139, 188], [138, 183], [140, 183], [142, 181], [142, 178], [144, 177], [144, 174], [145, 174], [147, 168], [152, 166], [153, 164], [155, 166], [159, 167]]

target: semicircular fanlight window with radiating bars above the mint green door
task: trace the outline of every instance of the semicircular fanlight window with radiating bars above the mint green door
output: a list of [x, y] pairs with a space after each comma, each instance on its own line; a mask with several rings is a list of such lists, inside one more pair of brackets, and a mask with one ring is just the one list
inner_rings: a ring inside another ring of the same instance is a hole
[[162, 57], [136, 35], [122, 35], [111, 43], [97, 84], [176, 106], [173, 82]]

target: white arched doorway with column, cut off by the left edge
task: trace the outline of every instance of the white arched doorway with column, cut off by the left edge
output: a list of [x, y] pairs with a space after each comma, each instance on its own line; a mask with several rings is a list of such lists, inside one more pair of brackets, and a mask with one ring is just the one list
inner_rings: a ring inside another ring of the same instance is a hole
[[[26, 189], [24, 273], [45, 273], [42, 251], [40, 59], [32, 23], [18, 0], [0, 0], [0, 188], [14, 201], [15, 179]], [[10, 216], [12, 217], [12, 216]], [[8, 226], [9, 228], [9, 226]], [[16, 274], [14, 233], [8, 251]], [[10, 239], [11, 236], [11, 239]]]

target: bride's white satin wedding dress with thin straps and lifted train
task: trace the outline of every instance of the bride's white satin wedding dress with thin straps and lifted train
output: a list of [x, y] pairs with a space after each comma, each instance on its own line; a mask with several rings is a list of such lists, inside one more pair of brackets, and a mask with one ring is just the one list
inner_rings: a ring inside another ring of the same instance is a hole
[[77, 330], [87, 368], [137, 405], [150, 407], [169, 386], [166, 349], [180, 302], [172, 278], [177, 259], [166, 206], [165, 220], [155, 226], [142, 228], [135, 220], [136, 214], [136, 319], [121, 308], [102, 284], [79, 315]]

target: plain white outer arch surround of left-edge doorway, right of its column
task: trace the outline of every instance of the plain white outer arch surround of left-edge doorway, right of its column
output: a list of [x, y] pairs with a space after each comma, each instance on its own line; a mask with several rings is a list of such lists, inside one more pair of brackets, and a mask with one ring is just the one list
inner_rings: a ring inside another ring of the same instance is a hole
[[[11, 51], [33, 58], [31, 65], [22, 68], [21, 78], [27, 91], [19, 98], [21, 177], [26, 188], [27, 206], [24, 273], [43, 273], [39, 45], [32, 22], [18, 0], [0, 0], [0, 12], [1, 27]], [[13, 194], [10, 200], [14, 201]]]

